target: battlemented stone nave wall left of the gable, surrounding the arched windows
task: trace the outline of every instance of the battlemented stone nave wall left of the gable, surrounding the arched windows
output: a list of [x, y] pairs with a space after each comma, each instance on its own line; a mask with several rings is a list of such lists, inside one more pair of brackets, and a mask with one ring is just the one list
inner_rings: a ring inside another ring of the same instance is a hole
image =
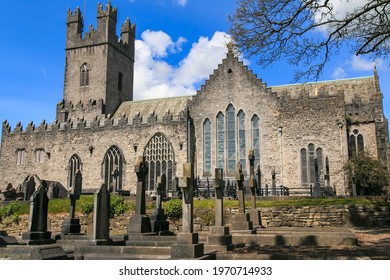
[[[26, 130], [15, 127], [10, 132], [3, 125], [0, 154], [0, 188], [8, 183], [16, 188], [30, 174], [37, 174], [42, 180], [58, 181], [68, 186], [68, 165], [72, 155], [77, 154], [82, 162], [83, 189], [97, 189], [102, 183], [102, 163], [107, 150], [115, 145], [124, 156], [123, 188], [132, 193], [136, 190], [134, 165], [142, 156], [149, 140], [162, 133], [172, 143], [176, 169], [174, 176], [181, 176], [183, 163], [187, 161], [186, 121], [168, 121], [151, 124], [133, 124], [123, 119], [102, 122], [29, 125]], [[135, 146], [137, 148], [135, 148]], [[25, 149], [23, 164], [16, 164], [16, 150]], [[42, 163], [35, 162], [35, 151], [43, 149]]]

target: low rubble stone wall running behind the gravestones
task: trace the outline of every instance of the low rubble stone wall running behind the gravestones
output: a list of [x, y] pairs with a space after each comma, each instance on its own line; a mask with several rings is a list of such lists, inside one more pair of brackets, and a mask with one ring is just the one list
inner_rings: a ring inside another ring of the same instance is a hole
[[[390, 210], [388, 206], [366, 205], [332, 205], [332, 206], [303, 206], [303, 207], [273, 207], [260, 208], [261, 222], [264, 227], [386, 227], [390, 226]], [[226, 215], [226, 223], [234, 219], [237, 209], [230, 209]], [[124, 234], [127, 232], [131, 213], [111, 219], [111, 234]], [[53, 234], [60, 233], [62, 223], [69, 214], [50, 214], [48, 230]], [[79, 216], [81, 232], [92, 234], [92, 215]], [[207, 230], [207, 225], [199, 224], [194, 219], [194, 229]], [[197, 222], [198, 221], [198, 222]], [[180, 223], [179, 223], [180, 224]], [[28, 215], [19, 217], [18, 222], [3, 219], [0, 222], [0, 231], [5, 230], [8, 235], [21, 236], [27, 231]], [[173, 225], [172, 225], [173, 227]]]

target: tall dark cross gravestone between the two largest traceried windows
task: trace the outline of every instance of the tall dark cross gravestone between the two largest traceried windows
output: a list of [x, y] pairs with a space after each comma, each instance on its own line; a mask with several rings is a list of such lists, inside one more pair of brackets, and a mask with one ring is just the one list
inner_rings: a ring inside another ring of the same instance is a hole
[[137, 193], [135, 200], [135, 213], [130, 217], [127, 228], [128, 234], [144, 234], [152, 231], [150, 217], [146, 215], [145, 178], [148, 175], [148, 167], [142, 156], [138, 157], [135, 165], [137, 174]]

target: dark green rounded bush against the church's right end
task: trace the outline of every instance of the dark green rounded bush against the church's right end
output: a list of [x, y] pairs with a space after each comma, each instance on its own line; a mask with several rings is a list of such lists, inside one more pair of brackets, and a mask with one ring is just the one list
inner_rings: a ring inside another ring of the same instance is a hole
[[360, 195], [383, 195], [389, 185], [389, 174], [386, 166], [368, 154], [359, 154], [350, 159], [344, 166], [352, 193], [355, 182], [356, 192]]

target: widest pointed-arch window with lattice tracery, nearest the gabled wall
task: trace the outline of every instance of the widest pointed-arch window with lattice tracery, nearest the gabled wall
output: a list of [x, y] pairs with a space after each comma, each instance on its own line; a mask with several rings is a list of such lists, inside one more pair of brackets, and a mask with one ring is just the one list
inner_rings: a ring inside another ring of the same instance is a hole
[[157, 177], [165, 174], [167, 190], [163, 190], [163, 192], [174, 191], [172, 188], [172, 180], [174, 178], [175, 156], [172, 144], [164, 134], [157, 133], [149, 140], [144, 150], [144, 157], [149, 167], [148, 176], [145, 181], [145, 189], [147, 191], [154, 191]]

